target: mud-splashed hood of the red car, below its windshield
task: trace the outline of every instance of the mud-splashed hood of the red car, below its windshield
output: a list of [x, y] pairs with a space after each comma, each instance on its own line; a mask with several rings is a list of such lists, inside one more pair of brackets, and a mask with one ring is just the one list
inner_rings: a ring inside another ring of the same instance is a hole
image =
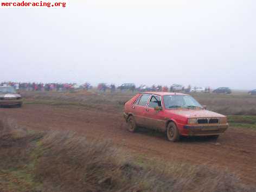
[[183, 117], [187, 117], [187, 118], [226, 117], [226, 116], [223, 116], [222, 114], [215, 113], [213, 111], [208, 111], [208, 110], [178, 109], [178, 110], [167, 110], [167, 111]]

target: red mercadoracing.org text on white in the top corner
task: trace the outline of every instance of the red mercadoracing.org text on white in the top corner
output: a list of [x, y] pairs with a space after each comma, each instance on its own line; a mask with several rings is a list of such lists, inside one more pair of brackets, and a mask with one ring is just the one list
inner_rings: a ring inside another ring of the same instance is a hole
[[66, 8], [66, 2], [56, 1], [0, 1], [2, 8]]

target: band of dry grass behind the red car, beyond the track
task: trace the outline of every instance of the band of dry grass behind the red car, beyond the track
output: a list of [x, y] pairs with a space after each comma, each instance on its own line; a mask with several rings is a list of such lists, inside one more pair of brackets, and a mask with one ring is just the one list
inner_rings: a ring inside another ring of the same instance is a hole
[[[112, 107], [117, 111], [123, 110], [125, 101], [131, 99], [136, 93], [98, 93], [98, 92], [23, 92], [28, 103], [42, 103], [52, 105], [80, 105], [92, 108]], [[243, 94], [207, 94], [194, 93], [195, 99], [208, 110], [221, 114], [256, 115], [256, 96]], [[54, 103], [54, 104], [53, 104]]]

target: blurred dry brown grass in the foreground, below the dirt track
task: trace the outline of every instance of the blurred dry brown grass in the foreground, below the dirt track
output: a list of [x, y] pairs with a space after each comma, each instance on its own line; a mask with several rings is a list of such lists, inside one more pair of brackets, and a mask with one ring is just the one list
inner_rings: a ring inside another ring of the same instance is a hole
[[[138, 164], [104, 140], [0, 121], [0, 191], [252, 191], [206, 165]], [[147, 160], [145, 160], [147, 161]]]

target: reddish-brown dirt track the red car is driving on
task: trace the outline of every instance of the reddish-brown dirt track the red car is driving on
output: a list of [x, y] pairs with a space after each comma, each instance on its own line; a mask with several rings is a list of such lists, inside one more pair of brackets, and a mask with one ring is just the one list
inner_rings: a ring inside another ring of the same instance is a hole
[[256, 184], [256, 131], [230, 128], [217, 143], [205, 138], [183, 138], [181, 142], [170, 143], [162, 133], [126, 131], [121, 114], [112, 108], [99, 111], [33, 104], [22, 108], [0, 108], [0, 116], [14, 118], [29, 129], [73, 130], [87, 138], [111, 139], [129, 152], [158, 157], [162, 161], [174, 159], [227, 168], [246, 183]]

